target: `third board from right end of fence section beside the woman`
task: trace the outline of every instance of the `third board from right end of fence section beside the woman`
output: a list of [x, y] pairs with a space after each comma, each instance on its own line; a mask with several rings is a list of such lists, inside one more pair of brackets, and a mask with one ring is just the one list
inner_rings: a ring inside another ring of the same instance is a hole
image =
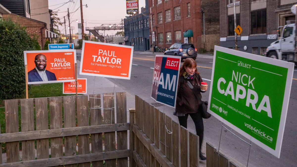
[[175, 121], [172, 121], [172, 163], [175, 167], [179, 166], [179, 137], [180, 137], [180, 128], [179, 124]]

